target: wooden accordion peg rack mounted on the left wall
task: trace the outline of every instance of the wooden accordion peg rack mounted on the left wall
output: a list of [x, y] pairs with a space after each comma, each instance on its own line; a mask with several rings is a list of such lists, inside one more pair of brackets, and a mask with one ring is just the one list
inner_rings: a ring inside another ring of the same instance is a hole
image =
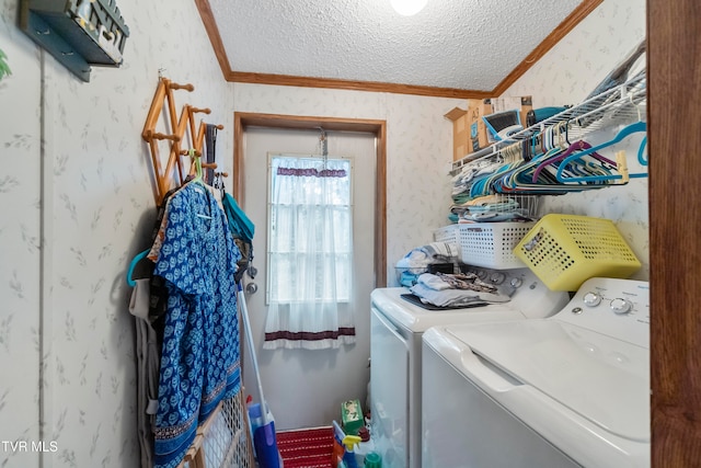
[[[156, 179], [156, 186], [153, 190], [153, 196], [156, 204], [160, 205], [163, 202], [163, 197], [169, 190], [172, 189], [173, 182], [179, 185], [185, 181], [188, 173], [193, 172], [193, 164], [183, 162], [182, 158], [191, 153], [193, 150], [196, 157], [203, 156], [205, 134], [207, 132], [207, 125], [204, 122], [199, 123], [199, 126], [195, 123], [195, 114], [210, 114], [211, 111], [207, 107], [199, 109], [193, 107], [189, 104], [185, 104], [181, 111], [180, 116], [175, 110], [175, 99], [173, 96], [174, 90], [186, 90], [193, 92], [195, 87], [192, 84], [179, 84], [174, 83], [168, 78], [161, 77], [149, 109], [146, 123], [143, 124], [143, 132], [141, 137], [149, 145], [151, 152], [151, 161], [153, 162], [153, 173]], [[168, 122], [166, 126], [170, 127], [171, 133], [164, 134], [157, 132], [156, 126], [159, 117], [163, 113], [163, 106], [166, 105]], [[223, 129], [223, 125], [217, 125], [218, 129]], [[187, 137], [187, 138], [186, 138]], [[189, 145], [186, 145], [186, 139]], [[159, 141], [169, 141], [169, 157], [165, 168], [161, 164], [161, 157], [159, 152]], [[216, 169], [216, 163], [203, 163], [203, 168]], [[226, 174], [223, 174], [226, 176]]]

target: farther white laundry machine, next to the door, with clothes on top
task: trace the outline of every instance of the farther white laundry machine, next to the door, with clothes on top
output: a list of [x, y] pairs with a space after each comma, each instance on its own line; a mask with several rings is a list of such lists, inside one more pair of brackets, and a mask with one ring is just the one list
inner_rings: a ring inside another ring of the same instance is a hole
[[509, 303], [467, 309], [428, 310], [402, 298], [404, 287], [371, 294], [370, 404], [372, 441], [383, 468], [421, 467], [422, 335], [429, 327], [542, 318], [567, 304], [567, 293], [549, 290], [528, 269], [472, 267], [512, 297]]

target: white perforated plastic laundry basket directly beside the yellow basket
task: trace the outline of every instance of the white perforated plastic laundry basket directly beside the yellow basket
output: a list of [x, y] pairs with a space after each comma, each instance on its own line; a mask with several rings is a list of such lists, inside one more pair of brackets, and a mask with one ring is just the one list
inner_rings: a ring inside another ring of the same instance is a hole
[[469, 222], [459, 226], [463, 263], [486, 269], [522, 269], [514, 248], [536, 222]]

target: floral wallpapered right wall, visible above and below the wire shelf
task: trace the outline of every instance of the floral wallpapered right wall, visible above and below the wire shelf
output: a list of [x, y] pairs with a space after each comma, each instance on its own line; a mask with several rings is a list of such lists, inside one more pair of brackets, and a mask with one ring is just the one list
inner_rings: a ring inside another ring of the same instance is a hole
[[[645, 0], [606, 0], [563, 41], [509, 88], [505, 95], [533, 96], [533, 106], [577, 104], [645, 38]], [[643, 109], [644, 116], [644, 109]], [[619, 128], [591, 135], [605, 141]], [[611, 147], [609, 155], [635, 155], [640, 138]], [[629, 157], [630, 172], [641, 172]], [[650, 278], [647, 179], [621, 187], [543, 197], [541, 214], [567, 213], [612, 219], [643, 267], [633, 275]]]

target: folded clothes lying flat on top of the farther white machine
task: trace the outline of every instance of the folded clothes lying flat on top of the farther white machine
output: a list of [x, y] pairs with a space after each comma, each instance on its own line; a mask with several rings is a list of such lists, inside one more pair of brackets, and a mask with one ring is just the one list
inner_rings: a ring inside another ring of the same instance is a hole
[[423, 273], [411, 293], [422, 303], [436, 307], [475, 307], [487, 304], [508, 303], [496, 286], [484, 283], [474, 273]]

